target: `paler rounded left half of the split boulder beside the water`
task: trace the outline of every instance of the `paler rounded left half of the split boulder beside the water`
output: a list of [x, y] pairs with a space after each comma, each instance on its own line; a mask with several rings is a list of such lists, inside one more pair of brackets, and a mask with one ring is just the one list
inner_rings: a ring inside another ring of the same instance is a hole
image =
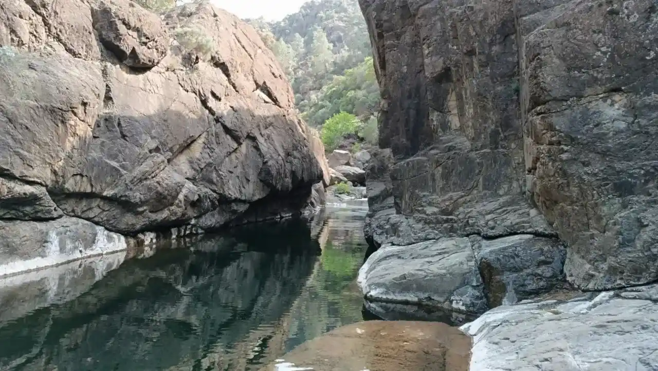
[[371, 301], [426, 304], [467, 313], [487, 309], [467, 238], [384, 245], [363, 264], [357, 282]]

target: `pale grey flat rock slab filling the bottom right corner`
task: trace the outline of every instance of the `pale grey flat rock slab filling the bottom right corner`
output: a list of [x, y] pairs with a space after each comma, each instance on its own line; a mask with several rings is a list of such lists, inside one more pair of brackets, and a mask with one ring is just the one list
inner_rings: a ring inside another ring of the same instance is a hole
[[470, 370], [655, 371], [655, 286], [500, 306], [462, 326]]

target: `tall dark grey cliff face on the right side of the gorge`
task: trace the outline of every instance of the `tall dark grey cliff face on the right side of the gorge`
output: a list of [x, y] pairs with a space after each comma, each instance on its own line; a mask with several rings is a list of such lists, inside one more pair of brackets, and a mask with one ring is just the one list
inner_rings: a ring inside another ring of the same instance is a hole
[[[560, 260], [536, 293], [563, 273], [584, 290], [658, 279], [655, 1], [359, 2], [386, 148], [368, 171], [372, 243], [422, 252], [445, 239], [540, 239], [489, 254], [503, 270], [470, 243], [482, 279], [502, 277], [483, 289], [494, 306], [522, 299], [518, 280]], [[511, 265], [527, 273], [504, 278]], [[402, 281], [411, 273], [424, 274]], [[364, 280], [365, 291], [382, 282]]]

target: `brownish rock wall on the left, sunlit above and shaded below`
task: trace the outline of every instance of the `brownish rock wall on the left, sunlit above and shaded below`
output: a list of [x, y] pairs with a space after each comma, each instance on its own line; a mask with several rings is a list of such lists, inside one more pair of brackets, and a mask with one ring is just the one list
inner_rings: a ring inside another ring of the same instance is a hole
[[203, 231], [299, 212], [328, 182], [274, 56], [211, 5], [3, 1], [0, 65], [3, 254], [22, 254], [17, 221]]

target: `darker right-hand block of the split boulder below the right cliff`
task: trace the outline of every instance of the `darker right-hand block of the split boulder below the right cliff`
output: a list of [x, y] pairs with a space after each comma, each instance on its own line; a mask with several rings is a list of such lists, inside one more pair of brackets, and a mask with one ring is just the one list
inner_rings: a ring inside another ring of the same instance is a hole
[[548, 293], [565, 281], [567, 251], [558, 239], [470, 237], [490, 308]]

